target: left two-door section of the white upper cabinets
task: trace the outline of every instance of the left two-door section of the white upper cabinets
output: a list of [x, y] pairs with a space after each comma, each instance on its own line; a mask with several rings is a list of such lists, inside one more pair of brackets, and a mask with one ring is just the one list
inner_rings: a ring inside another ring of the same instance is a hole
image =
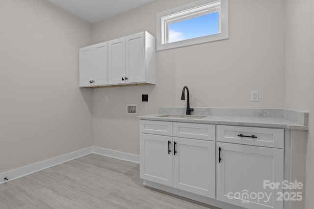
[[107, 42], [79, 49], [79, 87], [108, 84]]

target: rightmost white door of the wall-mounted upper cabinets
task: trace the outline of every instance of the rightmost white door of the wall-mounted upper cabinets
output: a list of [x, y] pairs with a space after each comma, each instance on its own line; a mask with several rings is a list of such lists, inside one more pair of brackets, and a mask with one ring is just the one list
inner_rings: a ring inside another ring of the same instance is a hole
[[126, 37], [126, 83], [145, 82], [145, 32]]

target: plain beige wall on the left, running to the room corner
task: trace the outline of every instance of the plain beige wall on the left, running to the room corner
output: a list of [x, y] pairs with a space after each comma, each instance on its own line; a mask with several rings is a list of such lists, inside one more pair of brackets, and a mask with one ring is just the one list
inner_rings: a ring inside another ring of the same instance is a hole
[[0, 20], [0, 173], [91, 146], [91, 24], [46, 0], [1, 0]]

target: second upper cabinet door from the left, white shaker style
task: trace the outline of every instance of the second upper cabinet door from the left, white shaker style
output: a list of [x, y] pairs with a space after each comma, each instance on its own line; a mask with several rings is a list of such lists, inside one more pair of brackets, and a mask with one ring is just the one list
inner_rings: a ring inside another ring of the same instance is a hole
[[108, 42], [93, 45], [93, 80], [95, 86], [108, 84]]

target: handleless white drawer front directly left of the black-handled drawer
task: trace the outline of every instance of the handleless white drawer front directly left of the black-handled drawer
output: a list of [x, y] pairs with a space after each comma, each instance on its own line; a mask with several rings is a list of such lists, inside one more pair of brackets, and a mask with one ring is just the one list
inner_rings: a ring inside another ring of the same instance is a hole
[[199, 123], [173, 123], [173, 136], [190, 138], [215, 140], [215, 125], [199, 124]]

